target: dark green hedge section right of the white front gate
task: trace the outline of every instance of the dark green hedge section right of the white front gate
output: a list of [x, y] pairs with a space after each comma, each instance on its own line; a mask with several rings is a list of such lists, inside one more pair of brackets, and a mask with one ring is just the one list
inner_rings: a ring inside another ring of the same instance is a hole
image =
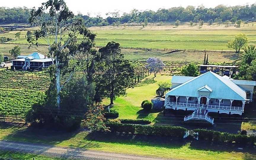
[[194, 132], [198, 133], [199, 140], [210, 141], [213, 143], [218, 142], [227, 142], [232, 143], [236, 142], [239, 144], [251, 144], [256, 143], [255, 136], [247, 136], [241, 134], [231, 134], [227, 132], [218, 132], [215, 130], [207, 130], [207, 129], [195, 129]]

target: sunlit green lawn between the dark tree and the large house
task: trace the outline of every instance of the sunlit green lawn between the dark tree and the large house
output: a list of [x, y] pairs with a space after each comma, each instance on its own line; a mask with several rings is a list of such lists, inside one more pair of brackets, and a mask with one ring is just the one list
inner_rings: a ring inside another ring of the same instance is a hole
[[[153, 75], [148, 76], [141, 83], [134, 86], [134, 88], [127, 89], [127, 95], [116, 98], [114, 107], [111, 110], [119, 112], [121, 119], [137, 119], [145, 118], [154, 120], [159, 112], [144, 113], [140, 107], [143, 100], [150, 100], [156, 96], [156, 89], [158, 89], [159, 82], [171, 82], [172, 77], [168, 75], [158, 74], [153, 80]], [[104, 104], [109, 104], [109, 99], [104, 99]]]

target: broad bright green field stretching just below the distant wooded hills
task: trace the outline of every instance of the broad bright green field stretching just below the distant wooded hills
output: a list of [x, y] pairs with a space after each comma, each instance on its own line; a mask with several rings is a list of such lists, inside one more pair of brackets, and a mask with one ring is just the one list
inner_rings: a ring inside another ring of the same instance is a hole
[[[97, 34], [96, 45], [104, 46], [109, 41], [116, 41], [122, 47], [133, 48], [169, 48], [169, 49], [196, 49], [196, 50], [231, 50], [227, 47], [228, 41], [239, 33], [248, 36], [249, 44], [256, 42], [256, 25], [245, 24], [241, 27], [225, 25], [204, 25], [190, 27], [189, 25], [173, 26], [147, 26], [143, 27], [91, 27]], [[14, 38], [17, 31], [3, 33], [0, 36]], [[25, 32], [22, 31], [21, 39], [15, 39], [9, 43], [27, 43]], [[41, 39], [40, 43], [46, 44]]]

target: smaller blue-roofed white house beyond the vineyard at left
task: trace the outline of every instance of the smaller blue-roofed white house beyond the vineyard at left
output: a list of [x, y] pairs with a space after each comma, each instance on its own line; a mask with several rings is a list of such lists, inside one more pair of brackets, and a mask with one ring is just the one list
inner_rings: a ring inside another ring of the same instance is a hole
[[12, 60], [12, 66], [14, 66], [15, 69], [23, 69], [26, 71], [28, 69], [47, 68], [52, 65], [52, 61], [54, 61], [54, 59], [34, 52], [30, 55], [19, 55], [17, 59]]

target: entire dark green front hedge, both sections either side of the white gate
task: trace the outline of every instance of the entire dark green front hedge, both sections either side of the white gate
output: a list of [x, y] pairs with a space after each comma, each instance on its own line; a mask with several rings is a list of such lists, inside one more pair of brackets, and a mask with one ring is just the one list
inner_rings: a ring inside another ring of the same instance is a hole
[[[133, 134], [133, 135], [149, 135], [149, 136], [168, 136], [172, 138], [183, 138], [186, 128], [177, 126], [161, 126], [161, 125], [134, 125], [122, 123], [107, 123], [112, 133]], [[218, 132], [215, 130], [195, 129], [199, 140], [209, 141], [211, 143], [232, 143], [255, 145], [256, 136], [247, 136], [241, 134], [231, 134], [227, 132]]]

